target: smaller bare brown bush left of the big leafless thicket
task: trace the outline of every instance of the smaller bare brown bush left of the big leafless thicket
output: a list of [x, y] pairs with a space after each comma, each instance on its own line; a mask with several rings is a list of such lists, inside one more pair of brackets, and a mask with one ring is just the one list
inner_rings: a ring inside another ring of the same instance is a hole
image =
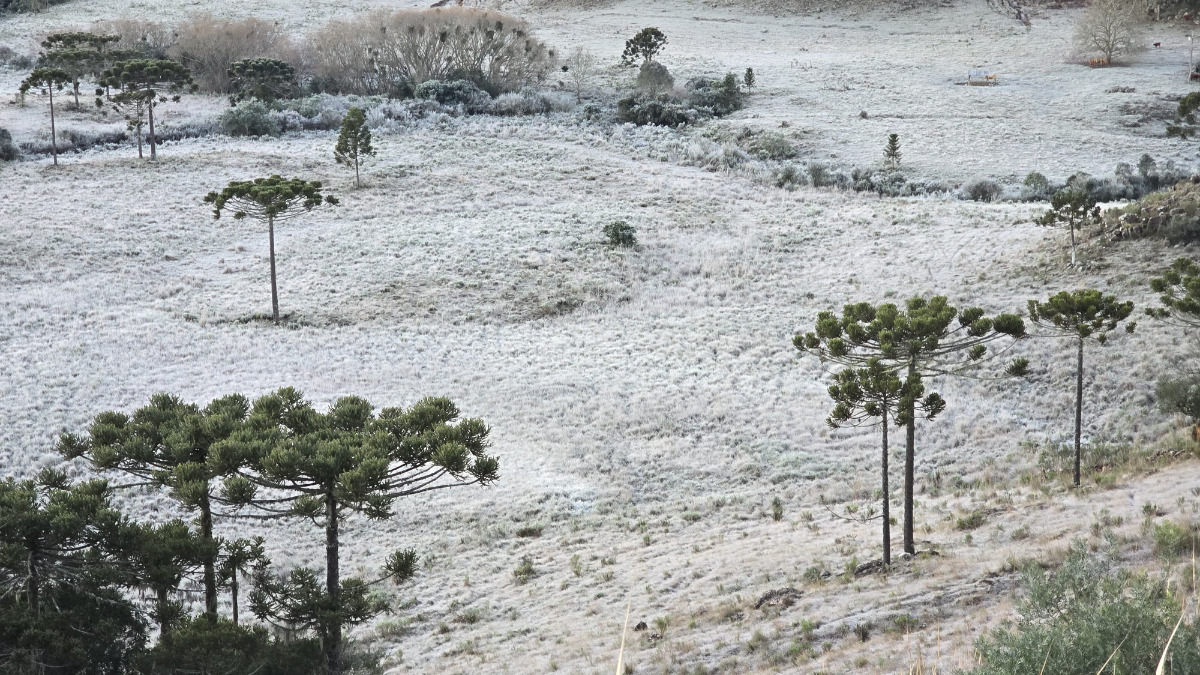
[[200, 88], [218, 94], [232, 91], [230, 64], [274, 56], [286, 42], [275, 24], [254, 17], [232, 20], [196, 14], [175, 34], [175, 43], [167, 53], [187, 66]]

